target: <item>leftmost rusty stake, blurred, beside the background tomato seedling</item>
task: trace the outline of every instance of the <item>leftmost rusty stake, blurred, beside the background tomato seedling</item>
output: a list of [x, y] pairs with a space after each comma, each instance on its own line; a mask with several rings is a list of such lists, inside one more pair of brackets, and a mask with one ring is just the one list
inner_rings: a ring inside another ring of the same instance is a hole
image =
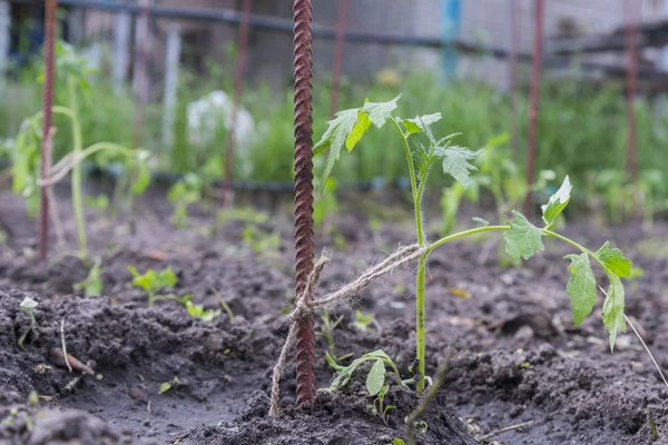
[[[40, 177], [46, 180], [49, 175], [50, 159], [49, 155], [49, 132], [52, 126], [52, 107], [53, 107], [53, 65], [56, 60], [53, 47], [56, 40], [56, 12], [58, 9], [58, 0], [47, 0], [46, 3], [46, 33], [45, 33], [45, 85], [42, 108], [45, 113], [42, 141], [41, 141], [41, 161]], [[40, 187], [39, 190], [39, 258], [45, 261], [47, 259], [47, 250], [49, 249], [49, 194], [47, 187]]]

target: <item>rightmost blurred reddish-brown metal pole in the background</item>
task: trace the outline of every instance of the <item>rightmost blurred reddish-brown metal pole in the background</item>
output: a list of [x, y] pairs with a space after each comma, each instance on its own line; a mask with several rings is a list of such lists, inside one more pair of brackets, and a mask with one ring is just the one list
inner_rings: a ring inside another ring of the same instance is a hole
[[638, 78], [638, 30], [636, 1], [625, 0], [627, 46], [627, 171], [633, 182], [638, 181], [638, 147], [636, 137], [636, 87]]

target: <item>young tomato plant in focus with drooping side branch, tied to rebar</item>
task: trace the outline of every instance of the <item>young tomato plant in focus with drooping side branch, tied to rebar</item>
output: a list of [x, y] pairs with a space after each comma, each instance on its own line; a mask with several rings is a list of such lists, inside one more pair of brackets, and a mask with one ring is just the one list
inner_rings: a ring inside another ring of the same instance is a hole
[[321, 184], [332, 172], [334, 164], [341, 156], [342, 148], [352, 151], [362, 137], [373, 126], [382, 128], [390, 122], [401, 145], [403, 146], [409, 175], [411, 179], [411, 192], [415, 214], [415, 234], [420, 248], [416, 270], [415, 286], [415, 337], [416, 337], [416, 362], [418, 366], [415, 382], [418, 392], [423, 392], [425, 386], [425, 270], [429, 255], [438, 247], [466, 236], [500, 231], [505, 241], [505, 253], [514, 259], [531, 258], [538, 250], [543, 250], [543, 237], [554, 238], [563, 241], [579, 255], [568, 255], [566, 259], [571, 261], [569, 270], [571, 278], [567, 285], [567, 293], [571, 298], [572, 313], [576, 325], [582, 323], [596, 304], [597, 284], [591, 268], [590, 259], [593, 259], [606, 273], [610, 287], [603, 301], [603, 324], [610, 334], [610, 348], [615, 347], [615, 339], [619, 330], [626, 332], [623, 316], [625, 289], [621, 278], [631, 275], [631, 261], [623, 257], [619, 249], [610, 248], [606, 243], [592, 251], [578, 243], [556, 233], [552, 226], [559, 215], [570, 201], [571, 185], [568, 177], [559, 190], [552, 195], [547, 205], [542, 206], [543, 227], [537, 227], [522, 214], [513, 210], [513, 220], [507, 225], [491, 226], [478, 218], [477, 221], [483, 226], [456, 234], [445, 236], [436, 241], [429, 243], [423, 226], [422, 198], [426, 180], [432, 167], [440, 162], [443, 172], [451, 175], [464, 188], [471, 182], [471, 170], [475, 167], [471, 164], [480, 151], [471, 151], [468, 148], [452, 145], [458, 135], [436, 138], [430, 126], [442, 119], [441, 113], [418, 116], [415, 118], [402, 119], [394, 115], [400, 97], [389, 102], [366, 101], [360, 108], [353, 108], [336, 113], [335, 119], [328, 122], [328, 127], [318, 144], [313, 149], [314, 156], [324, 154], [328, 149], [328, 158], [323, 172]]

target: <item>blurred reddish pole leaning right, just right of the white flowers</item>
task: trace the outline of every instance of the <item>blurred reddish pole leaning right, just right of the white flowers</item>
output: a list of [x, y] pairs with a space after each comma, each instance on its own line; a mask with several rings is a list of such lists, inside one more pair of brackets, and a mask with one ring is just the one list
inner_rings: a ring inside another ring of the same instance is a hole
[[232, 177], [234, 175], [234, 142], [237, 123], [237, 111], [244, 90], [244, 67], [246, 65], [246, 49], [248, 46], [248, 31], [250, 29], [252, 0], [244, 0], [242, 6], [242, 26], [239, 28], [239, 48], [234, 68], [234, 97], [232, 105], [232, 125], [227, 131], [225, 150], [225, 178], [223, 179], [223, 206], [232, 205]]

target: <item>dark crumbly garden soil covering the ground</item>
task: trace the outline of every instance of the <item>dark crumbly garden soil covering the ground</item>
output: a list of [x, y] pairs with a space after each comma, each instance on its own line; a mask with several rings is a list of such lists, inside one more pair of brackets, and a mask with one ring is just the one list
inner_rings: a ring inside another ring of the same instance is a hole
[[[89, 192], [98, 188], [89, 185]], [[389, 211], [384, 199], [342, 199], [353, 202], [352, 210], [331, 221], [334, 235], [321, 233], [317, 239], [316, 253], [326, 246], [332, 256], [318, 295], [412, 243], [410, 212]], [[243, 211], [220, 220], [215, 208], [191, 208], [188, 227], [177, 229], [169, 224], [164, 192], [155, 191], [135, 205], [135, 233], [122, 222], [127, 217], [87, 209], [90, 257], [101, 260], [102, 295], [85, 296], [75, 290], [88, 269], [72, 256], [76, 234], [67, 196], [59, 200], [67, 244], [52, 238], [50, 261], [41, 265], [37, 222], [27, 218], [20, 199], [0, 192], [8, 235], [0, 243], [0, 444], [383, 445], [406, 437], [405, 417], [419, 397], [392, 374], [384, 404], [394, 408], [384, 418], [370, 407], [374, 399], [367, 397], [363, 373], [343, 390], [318, 392], [315, 403], [295, 408], [291, 362], [283, 376], [282, 415], [267, 415], [271, 372], [294, 297], [291, 206], [274, 205], [265, 221], [248, 221]], [[360, 209], [364, 215], [356, 215]], [[249, 214], [256, 217], [259, 210]], [[610, 239], [642, 267], [642, 277], [625, 283], [626, 312], [668, 372], [668, 224], [644, 230], [578, 221], [561, 231], [592, 249]], [[272, 239], [273, 233], [279, 238]], [[436, 237], [431, 230], [430, 239]], [[449, 347], [455, 355], [421, 417], [419, 443], [668, 444], [668, 389], [639, 340], [629, 329], [610, 354], [601, 295], [593, 315], [574, 327], [564, 290], [568, 246], [547, 240], [546, 253], [509, 267], [498, 256], [497, 241], [453, 243], [430, 257], [428, 374], [435, 374]], [[205, 322], [175, 300], [148, 307], [128, 266], [141, 273], [171, 267], [178, 283], [163, 294], [191, 294], [194, 304], [220, 314]], [[342, 318], [333, 330], [334, 350], [325, 335], [317, 337], [320, 387], [334, 376], [327, 350], [348, 364], [383, 349], [402, 377], [411, 377], [413, 271], [414, 265], [395, 271], [352, 305], [330, 309], [332, 322]], [[38, 301], [31, 329], [30, 316], [20, 308], [26, 297]], [[364, 323], [364, 315], [373, 319]], [[323, 328], [318, 318], [316, 329]], [[23, 335], [24, 350], [18, 345]], [[72, 372], [63, 360], [63, 343], [77, 359], [68, 360]], [[167, 383], [170, 387], [160, 393]]]

